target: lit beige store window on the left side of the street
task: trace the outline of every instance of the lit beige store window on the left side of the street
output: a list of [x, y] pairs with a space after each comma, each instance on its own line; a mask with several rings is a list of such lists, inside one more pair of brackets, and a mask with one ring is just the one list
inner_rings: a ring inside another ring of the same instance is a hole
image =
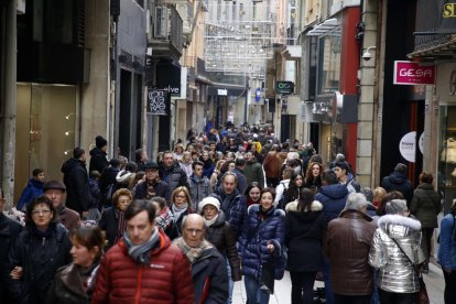
[[14, 202], [32, 171], [62, 181], [61, 167], [75, 148], [77, 86], [19, 84]]

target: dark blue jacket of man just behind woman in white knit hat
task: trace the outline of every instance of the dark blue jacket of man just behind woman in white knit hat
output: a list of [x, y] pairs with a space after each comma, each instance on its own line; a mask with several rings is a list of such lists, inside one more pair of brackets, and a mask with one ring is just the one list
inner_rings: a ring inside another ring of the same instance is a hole
[[243, 222], [246, 221], [247, 199], [238, 189], [230, 195], [226, 194], [221, 187], [218, 187], [210, 194], [220, 202], [220, 209], [224, 210], [227, 221], [236, 231], [236, 238], [241, 234]]

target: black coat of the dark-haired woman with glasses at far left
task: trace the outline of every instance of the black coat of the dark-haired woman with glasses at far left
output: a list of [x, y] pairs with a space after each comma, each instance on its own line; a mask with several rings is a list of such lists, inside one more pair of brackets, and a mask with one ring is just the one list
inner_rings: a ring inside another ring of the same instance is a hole
[[20, 265], [21, 280], [9, 278], [11, 294], [20, 303], [45, 303], [54, 275], [63, 265], [72, 262], [69, 232], [61, 224], [50, 226], [50, 236], [40, 238], [33, 228], [23, 230], [11, 248], [8, 272]]

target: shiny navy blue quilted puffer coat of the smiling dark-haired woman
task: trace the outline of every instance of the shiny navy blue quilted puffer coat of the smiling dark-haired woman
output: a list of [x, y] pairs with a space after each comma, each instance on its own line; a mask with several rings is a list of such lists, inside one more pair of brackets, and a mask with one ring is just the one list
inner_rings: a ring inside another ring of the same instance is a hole
[[[251, 205], [247, 210], [247, 221], [239, 239], [239, 256], [242, 258], [242, 273], [260, 280], [263, 263], [274, 267], [274, 279], [281, 280], [285, 270], [285, 213], [272, 207], [262, 219], [260, 205]], [[270, 253], [268, 245], [274, 246]]]

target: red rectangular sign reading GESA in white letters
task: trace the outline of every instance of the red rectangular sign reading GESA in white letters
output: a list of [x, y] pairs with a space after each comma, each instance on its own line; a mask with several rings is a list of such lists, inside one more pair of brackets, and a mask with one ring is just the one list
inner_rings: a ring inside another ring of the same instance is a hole
[[419, 63], [395, 61], [394, 85], [434, 85], [435, 66], [420, 66]]

